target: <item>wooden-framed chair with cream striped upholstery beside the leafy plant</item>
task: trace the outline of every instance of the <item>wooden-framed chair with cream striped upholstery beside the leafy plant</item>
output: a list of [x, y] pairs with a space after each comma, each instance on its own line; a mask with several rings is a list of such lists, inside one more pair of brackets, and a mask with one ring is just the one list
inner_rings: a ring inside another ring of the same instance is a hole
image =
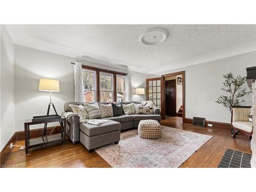
[[249, 121], [250, 108], [251, 106], [232, 106], [232, 138], [236, 138], [238, 132], [242, 132], [249, 137], [249, 140], [251, 140], [253, 126], [252, 122]]

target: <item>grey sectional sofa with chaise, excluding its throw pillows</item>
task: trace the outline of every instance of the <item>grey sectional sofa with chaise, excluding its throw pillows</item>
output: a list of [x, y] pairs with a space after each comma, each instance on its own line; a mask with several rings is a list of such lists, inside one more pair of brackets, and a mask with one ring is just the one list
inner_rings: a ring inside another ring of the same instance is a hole
[[[66, 102], [64, 105], [65, 112], [72, 112], [70, 104], [80, 105], [84, 102]], [[98, 102], [102, 103], [102, 102]], [[120, 104], [120, 102], [114, 102]], [[138, 101], [125, 101], [122, 104], [140, 103]], [[108, 104], [108, 103], [102, 103]], [[63, 112], [63, 113], [65, 113]], [[97, 147], [115, 143], [118, 144], [120, 140], [120, 131], [131, 128], [138, 128], [140, 120], [154, 119], [161, 120], [160, 110], [153, 109], [152, 115], [121, 115], [115, 117], [106, 117], [100, 119], [109, 119], [101, 125], [92, 125], [88, 123], [79, 123], [79, 116], [76, 114], [69, 115], [67, 122], [70, 129], [67, 130], [67, 135], [73, 143], [80, 141], [90, 152]]]

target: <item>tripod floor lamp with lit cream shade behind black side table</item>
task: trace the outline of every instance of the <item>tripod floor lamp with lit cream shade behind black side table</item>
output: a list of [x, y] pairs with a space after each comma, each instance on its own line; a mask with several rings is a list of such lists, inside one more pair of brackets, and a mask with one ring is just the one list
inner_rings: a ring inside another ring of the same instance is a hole
[[[55, 114], [58, 115], [57, 111], [55, 109], [55, 106], [52, 102], [52, 92], [59, 92], [59, 81], [58, 80], [53, 80], [53, 79], [40, 79], [38, 90], [39, 91], [48, 91], [48, 92], [50, 92], [50, 102], [48, 104], [48, 109], [47, 109], [47, 114], [46, 115], [49, 115], [51, 105], [53, 106]], [[60, 125], [61, 125], [61, 123], [60, 123]], [[47, 128], [47, 123], [45, 123], [45, 126], [44, 126], [44, 133], [43, 133], [44, 137], [46, 136], [46, 128]]]

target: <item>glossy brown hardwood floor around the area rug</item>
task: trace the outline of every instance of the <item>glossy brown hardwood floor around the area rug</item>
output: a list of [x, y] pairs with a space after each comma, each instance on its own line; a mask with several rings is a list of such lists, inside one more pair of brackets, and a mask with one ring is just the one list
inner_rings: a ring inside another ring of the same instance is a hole
[[[168, 117], [161, 124], [213, 136], [180, 167], [217, 167], [227, 148], [251, 154], [249, 142], [243, 134], [233, 139], [230, 137], [230, 130], [182, 124], [181, 117]], [[16, 145], [24, 145], [24, 141], [18, 141]], [[20, 154], [22, 150], [15, 146], [6, 167], [111, 167], [96, 152], [90, 154], [81, 143], [74, 145], [70, 140], [67, 140], [66, 145], [55, 144], [42, 150], [32, 150], [31, 155], [24, 156]]]

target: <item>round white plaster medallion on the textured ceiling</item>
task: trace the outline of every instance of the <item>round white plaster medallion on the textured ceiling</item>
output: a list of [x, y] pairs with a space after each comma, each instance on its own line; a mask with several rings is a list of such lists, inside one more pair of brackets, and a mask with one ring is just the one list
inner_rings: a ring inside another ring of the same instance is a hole
[[142, 33], [139, 40], [142, 44], [153, 46], [160, 44], [168, 37], [168, 32], [162, 28], [148, 29]]

